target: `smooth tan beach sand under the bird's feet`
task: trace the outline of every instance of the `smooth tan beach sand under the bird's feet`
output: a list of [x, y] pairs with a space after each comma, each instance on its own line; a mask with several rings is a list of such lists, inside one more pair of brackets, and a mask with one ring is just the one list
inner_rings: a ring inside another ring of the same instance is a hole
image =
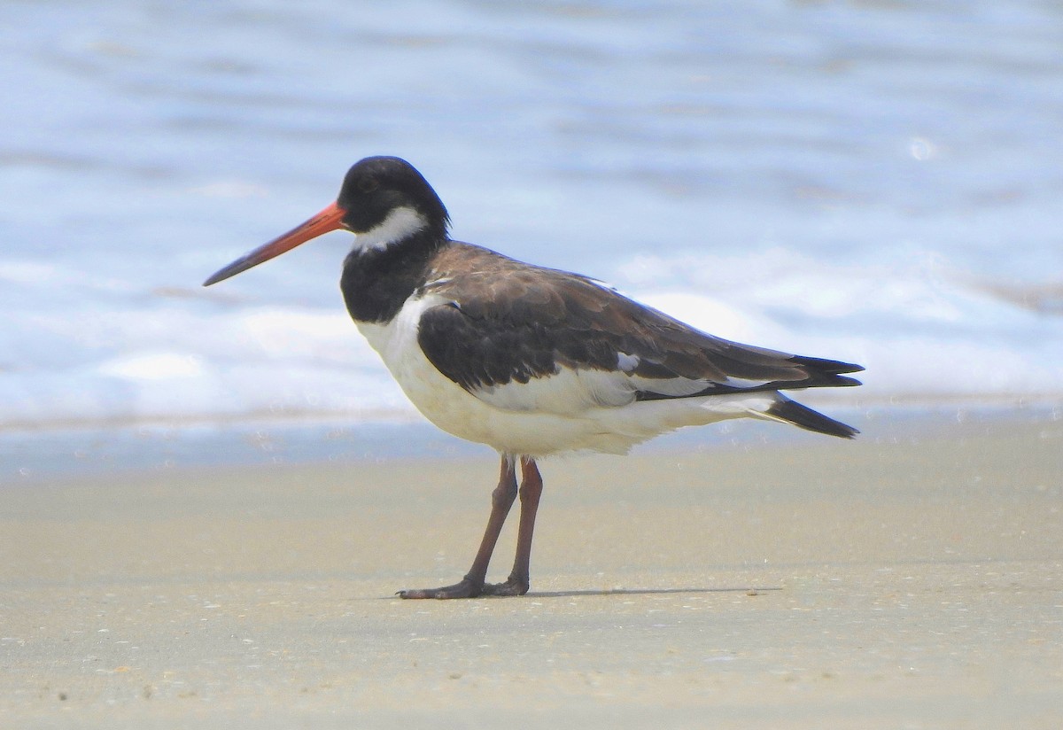
[[392, 596], [488, 456], [5, 487], [0, 727], [1063, 727], [1063, 423], [931, 426], [547, 462], [521, 598]]

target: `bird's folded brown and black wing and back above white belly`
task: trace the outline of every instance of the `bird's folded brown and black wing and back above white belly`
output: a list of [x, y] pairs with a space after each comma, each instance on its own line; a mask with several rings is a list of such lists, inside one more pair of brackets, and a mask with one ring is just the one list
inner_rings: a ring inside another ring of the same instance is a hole
[[[471, 265], [471, 266], [470, 266]], [[454, 244], [434, 261], [419, 342], [471, 392], [559, 373], [615, 372], [631, 400], [854, 386], [859, 366], [800, 357], [699, 332], [585, 276]]]

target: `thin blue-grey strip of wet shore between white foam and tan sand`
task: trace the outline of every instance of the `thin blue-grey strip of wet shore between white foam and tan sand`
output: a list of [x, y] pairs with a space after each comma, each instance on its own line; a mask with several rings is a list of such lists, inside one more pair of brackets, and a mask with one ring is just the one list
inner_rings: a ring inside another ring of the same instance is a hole
[[[956, 403], [831, 406], [806, 398], [859, 428], [858, 440], [932, 434], [957, 422], [1046, 422], [1060, 418], [1061, 402]], [[753, 419], [679, 429], [632, 449], [652, 455], [686, 448], [815, 443], [825, 437]], [[493, 452], [461, 441], [419, 415], [408, 420], [234, 420], [220, 424], [130, 424], [57, 430], [0, 429], [0, 489], [53, 477], [174, 466], [265, 463], [331, 463], [364, 460], [456, 459]], [[561, 457], [564, 458], [564, 457]]]

